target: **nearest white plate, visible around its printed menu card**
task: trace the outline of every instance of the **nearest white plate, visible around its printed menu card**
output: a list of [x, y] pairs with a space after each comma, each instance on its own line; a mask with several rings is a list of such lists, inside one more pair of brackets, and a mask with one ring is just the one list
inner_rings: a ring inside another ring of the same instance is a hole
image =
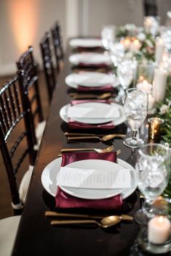
[[[84, 168], [93, 168], [93, 165], [98, 165], [103, 167], [104, 170], [108, 165], [111, 165], [109, 161], [105, 160], [83, 160], [78, 162], [72, 162], [70, 164], [70, 167], [74, 168], [83, 168], [83, 162], [84, 162]], [[51, 196], [55, 197], [57, 194], [57, 174], [59, 173], [59, 170], [61, 168], [62, 163], [62, 157], [59, 157], [52, 162], [49, 163], [49, 165], [44, 168], [43, 173], [41, 175], [41, 183], [43, 185], [43, 188], [51, 194]], [[122, 199], [125, 199], [126, 197], [130, 196], [130, 194], [135, 191], [138, 183], [138, 176], [137, 171], [128, 164], [128, 162], [125, 162], [123, 160], [117, 159], [117, 163], [122, 166], [123, 168], [127, 168], [130, 170], [130, 176], [131, 176], [131, 187], [129, 189], [122, 189], [122, 191], [119, 191], [118, 189], [78, 189], [78, 188], [71, 188], [71, 187], [61, 187], [63, 191], [66, 191], [67, 194], [70, 194], [74, 197], [79, 197], [83, 199], [105, 199], [109, 197], [113, 197], [116, 195], [116, 193], [121, 193]]]

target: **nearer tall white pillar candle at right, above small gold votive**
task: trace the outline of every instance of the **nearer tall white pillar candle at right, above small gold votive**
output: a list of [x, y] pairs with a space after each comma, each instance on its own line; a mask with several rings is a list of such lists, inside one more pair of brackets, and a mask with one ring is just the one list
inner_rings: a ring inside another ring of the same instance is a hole
[[154, 70], [154, 89], [153, 96], [156, 102], [160, 102], [164, 99], [167, 86], [167, 71], [162, 67]]

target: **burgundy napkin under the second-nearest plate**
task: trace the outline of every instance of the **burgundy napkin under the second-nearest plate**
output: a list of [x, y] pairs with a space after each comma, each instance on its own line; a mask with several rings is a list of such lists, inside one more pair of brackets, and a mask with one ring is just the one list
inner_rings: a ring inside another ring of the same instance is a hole
[[[81, 100], [73, 100], [70, 102], [70, 104], [72, 106], [74, 106], [75, 104], [80, 104], [80, 103], [86, 103], [86, 102], [102, 102], [102, 103], [107, 103], [110, 104], [111, 101], [107, 100], [107, 99], [81, 99]], [[109, 123], [102, 123], [102, 124], [89, 124], [89, 123], [80, 123], [77, 122], [75, 120], [72, 120], [71, 118], [69, 119], [68, 122], [68, 128], [70, 129], [113, 129], [114, 128], [114, 124], [113, 122], [109, 122]]]

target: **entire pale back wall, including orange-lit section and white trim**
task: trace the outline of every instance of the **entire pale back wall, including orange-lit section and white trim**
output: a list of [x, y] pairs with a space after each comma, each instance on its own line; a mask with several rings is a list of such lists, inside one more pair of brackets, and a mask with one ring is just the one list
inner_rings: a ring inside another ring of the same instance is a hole
[[[102, 24], [143, 24], [143, 0], [1, 0], [0, 75], [13, 73], [29, 45], [41, 63], [39, 42], [59, 20], [64, 46], [71, 36], [99, 36]], [[158, 0], [164, 24], [171, 0]], [[22, 9], [24, 10], [22, 12]]]

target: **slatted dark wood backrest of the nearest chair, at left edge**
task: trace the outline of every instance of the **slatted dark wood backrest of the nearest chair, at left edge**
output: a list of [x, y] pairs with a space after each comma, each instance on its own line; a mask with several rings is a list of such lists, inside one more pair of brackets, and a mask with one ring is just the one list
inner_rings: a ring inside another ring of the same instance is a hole
[[25, 105], [24, 94], [16, 76], [0, 90], [0, 148], [15, 214], [22, 209], [17, 172], [25, 157], [29, 158], [30, 165], [33, 165], [36, 159], [32, 132], [30, 111]]

